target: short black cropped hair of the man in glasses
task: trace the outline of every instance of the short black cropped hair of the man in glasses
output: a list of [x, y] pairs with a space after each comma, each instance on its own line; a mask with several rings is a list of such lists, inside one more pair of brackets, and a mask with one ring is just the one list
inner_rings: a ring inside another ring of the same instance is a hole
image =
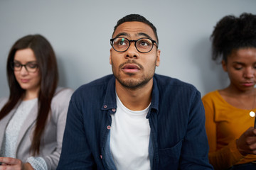
[[[159, 39], [156, 33], [156, 27], [153, 25], [153, 23], [149, 22], [144, 16], [141, 16], [139, 14], [129, 14], [119, 19], [119, 21], [117, 21], [117, 25], [114, 26], [114, 31], [117, 30], [117, 27], [120, 26], [122, 23], [132, 22], [132, 21], [146, 23], [148, 26], [150, 26], [154, 31], [154, 35], [156, 36], [156, 41], [159, 44]], [[113, 32], [113, 35], [114, 35], [114, 32]]]

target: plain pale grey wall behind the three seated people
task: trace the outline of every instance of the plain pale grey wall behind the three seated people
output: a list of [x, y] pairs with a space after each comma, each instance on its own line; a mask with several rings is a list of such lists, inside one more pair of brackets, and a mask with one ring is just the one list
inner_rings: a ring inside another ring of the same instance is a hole
[[111, 74], [110, 38], [119, 18], [145, 16], [157, 28], [156, 73], [186, 81], [205, 95], [228, 85], [211, 60], [210, 34], [223, 16], [256, 13], [255, 0], [35, 1], [0, 0], [0, 97], [9, 95], [6, 58], [18, 38], [39, 33], [55, 50], [60, 86], [77, 89]]

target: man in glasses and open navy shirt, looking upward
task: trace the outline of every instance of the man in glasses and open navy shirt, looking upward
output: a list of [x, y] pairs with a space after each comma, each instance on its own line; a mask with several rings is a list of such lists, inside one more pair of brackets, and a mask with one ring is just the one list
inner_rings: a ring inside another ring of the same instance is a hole
[[125, 16], [110, 42], [113, 74], [73, 94], [58, 169], [212, 169], [201, 94], [154, 73], [153, 24]]

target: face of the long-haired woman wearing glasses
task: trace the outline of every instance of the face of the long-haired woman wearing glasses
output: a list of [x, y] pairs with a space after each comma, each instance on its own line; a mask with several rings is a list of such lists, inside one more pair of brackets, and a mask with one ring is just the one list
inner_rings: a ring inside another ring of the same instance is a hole
[[[21, 66], [21, 64], [26, 64], [26, 67]], [[38, 93], [41, 75], [36, 56], [31, 48], [16, 51], [14, 55], [14, 75], [22, 89], [26, 92]]]

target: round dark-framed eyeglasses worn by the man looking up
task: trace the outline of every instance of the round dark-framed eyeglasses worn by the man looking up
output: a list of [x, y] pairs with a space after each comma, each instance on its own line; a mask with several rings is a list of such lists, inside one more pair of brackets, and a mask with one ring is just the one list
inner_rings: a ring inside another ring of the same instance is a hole
[[131, 42], [134, 42], [136, 49], [139, 52], [146, 53], [150, 52], [154, 46], [158, 47], [155, 40], [151, 40], [150, 38], [139, 38], [138, 40], [128, 40], [127, 38], [117, 37], [110, 39], [110, 45], [117, 52], [125, 52], [128, 50]]

